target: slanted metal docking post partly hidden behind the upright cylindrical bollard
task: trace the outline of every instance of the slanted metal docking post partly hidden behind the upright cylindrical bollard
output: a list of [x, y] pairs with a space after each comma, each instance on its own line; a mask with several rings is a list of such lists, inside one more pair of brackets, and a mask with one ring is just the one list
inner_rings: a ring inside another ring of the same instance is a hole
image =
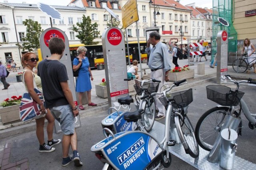
[[[240, 121], [241, 119], [228, 115], [226, 121], [224, 122], [224, 125], [222, 126], [222, 129], [228, 128], [230, 126], [233, 130], [236, 131], [238, 129], [238, 125], [240, 124]], [[209, 162], [216, 163], [220, 161], [220, 142], [221, 142], [221, 135], [219, 133], [207, 157], [207, 160]]]

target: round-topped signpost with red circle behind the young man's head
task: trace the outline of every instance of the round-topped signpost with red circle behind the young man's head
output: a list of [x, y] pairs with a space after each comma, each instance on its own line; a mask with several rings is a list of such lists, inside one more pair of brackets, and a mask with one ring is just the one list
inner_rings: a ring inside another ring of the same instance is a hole
[[[44, 32], [40, 36], [40, 48], [41, 48], [41, 54], [43, 59], [46, 59], [47, 57], [51, 56], [49, 46], [49, 41], [53, 37], [62, 38], [65, 42], [65, 50], [62, 58], [60, 59], [60, 62], [63, 63], [66, 66], [67, 72], [68, 72], [68, 87], [70, 88], [72, 92], [72, 97], [74, 99], [74, 103], [76, 106], [78, 105], [77, 99], [76, 99], [76, 90], [75, 90], [75, 83], [74, 83], [74, 77], [73, 77], [73, 71], [72, 71], [72, 64], [70, 59], [70, 52], [69, 52], [69, 43], [68, 43], [68, 37], [66, 34], [58, 29], [58, 28], [48, 28], [44, 30]], [[75, 127], [80, 127], [80, 117], [78, 115], [77, 117], [78, 121], [76, 121]], [[55, 120], [55, 128], [56, 132], [60, 131], [60, 125], [58, 121]], [[61, 131], [60, 131], [61, 132]]]

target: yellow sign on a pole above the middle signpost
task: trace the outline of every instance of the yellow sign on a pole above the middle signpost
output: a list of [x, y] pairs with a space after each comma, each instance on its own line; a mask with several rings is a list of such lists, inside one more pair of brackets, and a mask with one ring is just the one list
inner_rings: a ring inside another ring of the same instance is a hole
[[138, 10], [137, 10], [137, 1], [129, 0], [122, 8], [122, 23], [123, 28], [127, 28], [132, 23], [139, 20]]

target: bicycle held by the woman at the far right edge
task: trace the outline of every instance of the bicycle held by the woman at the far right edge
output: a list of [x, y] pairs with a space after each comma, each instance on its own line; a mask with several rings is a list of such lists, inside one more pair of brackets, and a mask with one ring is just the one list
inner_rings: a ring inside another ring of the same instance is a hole
[[[255, 54], [255, 53], [252, 53]], [[253, 61], [248, 62], [248, 58], [254, 58]], [[248, 57], [248, 53], [243, 53], [242, 57], [236, 59], [232, 63], [234, 71], [237, 73], [244, 73], [246, 70], [251, 70], [255, 65], [256, 57]]]

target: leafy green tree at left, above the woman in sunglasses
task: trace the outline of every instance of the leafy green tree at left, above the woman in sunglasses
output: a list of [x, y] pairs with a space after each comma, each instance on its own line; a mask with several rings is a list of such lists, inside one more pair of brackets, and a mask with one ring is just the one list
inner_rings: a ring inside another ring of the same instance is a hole
[[33, 21], [31, 19], [26, 19], [22, 22], [24, 26], [26, 26], [26, 36], [22, 38], [23, 47], [20, 44], [18, 45], [24, 51], [27, 49], [28, 51], [33, 51], [34, 49], [40, 48], [40, 35], [44, 30], [41, 28], [41, 24], [37, 21]]

